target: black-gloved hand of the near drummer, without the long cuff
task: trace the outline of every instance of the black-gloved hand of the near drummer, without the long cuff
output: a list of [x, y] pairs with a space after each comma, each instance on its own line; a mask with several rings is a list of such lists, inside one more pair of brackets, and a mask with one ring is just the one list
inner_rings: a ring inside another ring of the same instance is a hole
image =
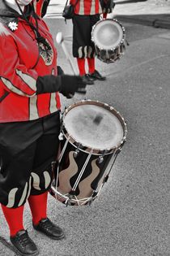
[[61, 76], [62, 85], [60, 93], [62, 93], [66, 98], [72, 98], [74, 93], [86, 93], [86, 83], [83, 81], [81, 76]]

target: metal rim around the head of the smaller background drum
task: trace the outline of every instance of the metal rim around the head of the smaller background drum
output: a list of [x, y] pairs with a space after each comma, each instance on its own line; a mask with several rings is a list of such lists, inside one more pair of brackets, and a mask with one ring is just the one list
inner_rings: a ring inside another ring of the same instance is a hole
[[[125, 41], [125, 28], [121, 25], [120, 22], [118, 22], [117, 19], [106, 19], [106, 20], [99, 20], [97, 21], [97, 23], [95, 25], [93, 25], [92, 29], [91, 29], [91, 41], [95, 44], [96, 46], [96, 43], [95, 43], [95, 39], [94, 39], [94, 30], [97, 26], [97, 24], [100, 24], [101, 22], [105, 22], [105, 21], [108, 21], [108, 20], [112, 20], [112, 21], [115, 21], [117, 24], [120, 25], [121, 29], [122, 29], [122, 32], [123, 32], [123, 35], [122, 35], [122, 40], [117, 44], [116, 47], [113, 47], [109, 50], [116, 50], [118, 47], [120, 47], [121, 45], [124, 44], [124, 41]], [[100, 46], [97, 46], [99, 50], [108, 50], [108, 49], [105, 49], [104, 47], [100, 47]]]

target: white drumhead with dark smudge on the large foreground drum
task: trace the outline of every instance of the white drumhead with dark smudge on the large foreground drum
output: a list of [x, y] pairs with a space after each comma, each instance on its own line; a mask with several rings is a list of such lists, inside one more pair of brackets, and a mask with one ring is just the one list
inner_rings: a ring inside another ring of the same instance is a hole
[[74, 141], [96, 150], [113, 149], [124, 136], [117, 116], [97, 105], [83, 104], [71, 108], [63, 124]]

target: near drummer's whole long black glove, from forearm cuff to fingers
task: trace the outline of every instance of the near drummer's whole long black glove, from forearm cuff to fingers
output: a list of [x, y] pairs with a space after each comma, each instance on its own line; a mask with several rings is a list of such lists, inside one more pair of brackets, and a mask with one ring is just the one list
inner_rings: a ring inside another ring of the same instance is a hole
[[74, 93], [86, 93], [86, 83], [81, 76], [38, 76], [36, 94], [60, 92], [66, 98], [72, 98]]

